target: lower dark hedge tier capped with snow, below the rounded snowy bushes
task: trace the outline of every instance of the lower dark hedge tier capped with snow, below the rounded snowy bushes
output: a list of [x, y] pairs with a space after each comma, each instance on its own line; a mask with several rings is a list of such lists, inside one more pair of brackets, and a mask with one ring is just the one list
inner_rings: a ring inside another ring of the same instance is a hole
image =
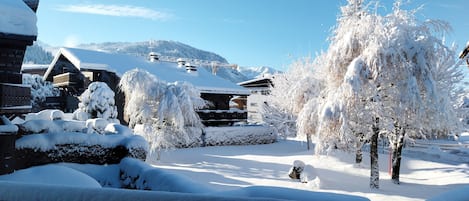
[[145, 160], [148, 144], [138, 135], [45, 133], [18, 139], [16, 153], [16, 169], [58, 162], [117, 164], [125, 157]]

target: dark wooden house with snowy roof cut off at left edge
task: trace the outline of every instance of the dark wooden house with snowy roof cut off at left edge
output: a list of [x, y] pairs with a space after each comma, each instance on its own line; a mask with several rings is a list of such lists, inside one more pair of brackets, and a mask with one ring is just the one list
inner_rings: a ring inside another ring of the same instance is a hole
[[22, 85], [26, 46], [36, 40], [38, 0], [0, 1], [0, 114], [31, 111], [30, 87]]

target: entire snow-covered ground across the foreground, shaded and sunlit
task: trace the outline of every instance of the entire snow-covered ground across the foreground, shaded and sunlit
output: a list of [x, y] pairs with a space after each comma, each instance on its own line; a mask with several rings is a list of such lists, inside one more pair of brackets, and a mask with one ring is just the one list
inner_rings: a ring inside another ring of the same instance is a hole
[[[255, 200], [262, 197], [362, 200], [347, 195], [370, 200], [464, 200], [469, 197], [469, 133], [464, 133], [459, 140], [466, 148], [446, 151], [436, 146], [406, 147], [400, 185], [391, 182], [389, 155], [386, 149], [381, 149], [379, 190], [369, 188], [369, 159], [366, 154], [363, 163], [357, 166], [353, 165], [355, 159], [351, 153], [316, 156], [313, 151], [306, 150], [304, 142], [280, 140], [264, 145], [169, 150], [162, 153], [161, 160], [150, 158], [147, 164], [126, 159], [121, 164], [106, 166], [57, 164], [33, 167], [0, 176], [0, 200], [34, 196], [39, 196], [36, 199], [82, 200], [91, 198], [90, 194], [101, 198], [113, 196], [118, 200], [132, 196], [142, 200], [158, 196], [185, 200]], [[438, 143], [451, 144], [454, 141]], [[290, 179], [288, 172], [295, 160], [309, 165], [310, 169], [305, 171], [309, 171], [311, 179], [317, 178], [308, 183]], [[136, 178], [134, 185], [160, 192], [108, 188], [123, 185], [119, 181], [119, 177], [123, 177], [122, 171]], [[14, 193], [20, 192], [18, 189], [30, 190], [28, 194], [19, 195]], [[160, 195], [164, 191], [175, 193]], [[345, 197], [340, 194], [345, 194]]]

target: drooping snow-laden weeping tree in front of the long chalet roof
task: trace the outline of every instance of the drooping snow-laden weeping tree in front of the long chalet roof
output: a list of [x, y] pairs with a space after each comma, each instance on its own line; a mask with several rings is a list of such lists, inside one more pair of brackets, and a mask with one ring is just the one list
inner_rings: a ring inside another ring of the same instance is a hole
[[147, 125], [151, 151], [196, 143], [203, 124], [196, 109], [205, 106], [200, 92], [188, 83], [166, 83], [145, 70], [126, 72], [119, 83], [126, 96], [129, 126]]

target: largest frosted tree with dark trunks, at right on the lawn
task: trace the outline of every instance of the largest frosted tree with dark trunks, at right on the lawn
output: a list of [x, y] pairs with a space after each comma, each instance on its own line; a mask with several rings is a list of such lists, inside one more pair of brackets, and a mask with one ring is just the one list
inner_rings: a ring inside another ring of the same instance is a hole
[[453, 49], [438, 38], [449, 25], [420, 21], [400, 4], [381, 15], [362, 0], [349, 0], [314, 73], [291, 73], [288, 91], [300, 93], [282, 100], [298, 116], [298, 132], [316, 133], [317, 153], [357, 151], [359, 162], [361, 147], [370, 142], [371, 188], [379, 188], [380, 136], [391, 142], [399, 183], [404, 138], [439, 137], [458, 128], [453, 106], [460, 73]]

